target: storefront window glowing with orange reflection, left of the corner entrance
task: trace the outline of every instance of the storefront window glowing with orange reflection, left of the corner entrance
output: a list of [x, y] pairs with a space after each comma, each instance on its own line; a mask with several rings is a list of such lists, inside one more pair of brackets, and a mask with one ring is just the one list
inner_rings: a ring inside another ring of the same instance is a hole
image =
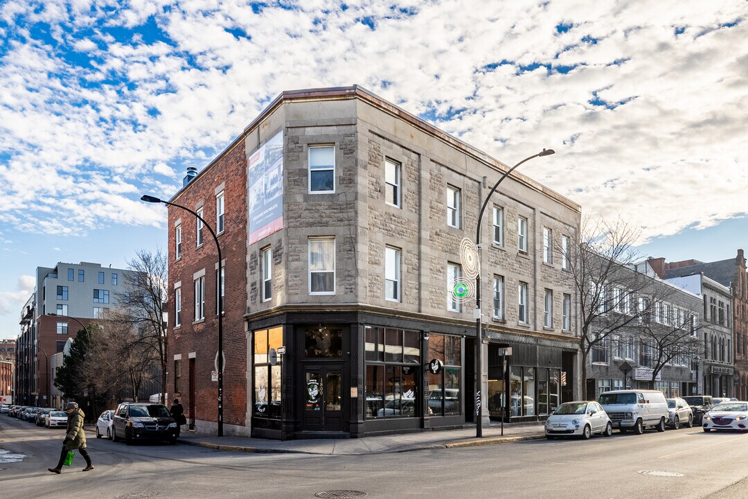
[[254, 417], [281, 418], [281, 357], [270, 365], [268, 352], [283, 346], [283, 328], [254, 331]]

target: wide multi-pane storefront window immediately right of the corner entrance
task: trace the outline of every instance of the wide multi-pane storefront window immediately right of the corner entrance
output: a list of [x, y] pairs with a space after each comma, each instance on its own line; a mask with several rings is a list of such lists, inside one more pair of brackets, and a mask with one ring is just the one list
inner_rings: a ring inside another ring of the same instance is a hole
[[367, 326], [364, 343], [366, 417], [417, 416], [420, 333]]

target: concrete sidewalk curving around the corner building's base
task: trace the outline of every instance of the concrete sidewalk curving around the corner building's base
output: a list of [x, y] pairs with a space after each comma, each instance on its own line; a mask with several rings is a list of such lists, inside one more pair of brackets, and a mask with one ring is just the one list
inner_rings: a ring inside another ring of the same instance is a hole
[[476, 438], [475, 428], [450, 429], [429, 432], [384, 435], [366, 438], [339, 438], [313, 440], [269, 440], [235, 436], [217, 437], [182, 432], [179, 442], [218, 450], [233, 450], [249, 453], [304, 453], [304, 454], [375, 454], [408, 452], [410, 450], [445, 449], [451, 447], [473, 447], [477, 445], [502, 444], [521, 440], [544, 438], [543, 424], [501, 425], [483, 427], [483, 437]]

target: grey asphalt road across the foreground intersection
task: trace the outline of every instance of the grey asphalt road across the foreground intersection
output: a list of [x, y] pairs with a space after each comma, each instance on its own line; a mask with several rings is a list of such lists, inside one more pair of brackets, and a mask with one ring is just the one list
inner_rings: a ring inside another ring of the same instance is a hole
[[4, 414], [1, 498], [315, 498], [350, 490], [367, 498], [748, 498], [748, 435], [699, 428], [589, 441], [523, 441], [365, 456], [233, 453], [186, 445], [97, 440], [63, 474], [62, 429]]

